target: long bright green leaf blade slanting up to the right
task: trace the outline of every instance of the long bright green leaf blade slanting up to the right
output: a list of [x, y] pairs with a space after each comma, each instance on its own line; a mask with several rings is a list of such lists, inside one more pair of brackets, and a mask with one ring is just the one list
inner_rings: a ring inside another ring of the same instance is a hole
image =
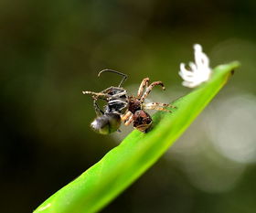
[[90, 213], [106, 206], [174, 144], [238, 66], [233, 62], [214, 69], [207, 83], [172, 103], [177, 107], [173, 113], [156, 112], [149, 133], [130, 133], [122, 144], [49, 197], [35, 213]]

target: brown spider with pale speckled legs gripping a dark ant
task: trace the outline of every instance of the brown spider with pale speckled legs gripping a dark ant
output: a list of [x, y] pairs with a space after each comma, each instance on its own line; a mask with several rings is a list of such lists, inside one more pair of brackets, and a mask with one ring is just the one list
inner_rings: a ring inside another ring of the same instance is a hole
[[160, 85], [162, 89], [165, 90], [165, 86], [162, 81], [155, 81], [149, 86], [148, 83], [149, 78], [145, 78], [141, 82], [137, 96], [128, 97], [128, 110], [121, 116], [124, 125], [127, 126], [133, 122], [133, 127], [143, 133], [146, 133], [152, 125], [151, 116], [147, 112], [144, 112], [144, 110], [171, 112], [165, 108], [176, 108], [175, 106], [161, 102], [144, 103], [145, 98], [149, 95], [155, 86]]

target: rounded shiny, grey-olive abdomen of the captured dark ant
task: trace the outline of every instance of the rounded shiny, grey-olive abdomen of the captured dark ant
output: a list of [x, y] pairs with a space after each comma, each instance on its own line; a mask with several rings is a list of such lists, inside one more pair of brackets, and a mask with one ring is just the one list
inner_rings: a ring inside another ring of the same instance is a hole
[[116, 113], [106, 113], [91, 122], [91, 128], [101, 134], [109, 134], [118, 130], [121, 118]]

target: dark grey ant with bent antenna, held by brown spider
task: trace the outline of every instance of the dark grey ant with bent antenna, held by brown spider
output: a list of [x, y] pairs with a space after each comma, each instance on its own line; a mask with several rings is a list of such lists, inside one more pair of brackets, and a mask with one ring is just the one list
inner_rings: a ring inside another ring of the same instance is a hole
[[[101, 134], [116, 132], [121, 125], [121, 114], [126, 112], [128, 107], [127, 92], [121, 87], [123, 81], [127, 79], [127, 76], [112, 69], [103, 69], [99, 72], [98, 76], [105, 71], [123, 76], [123, 80], [121, 80], [118, 87], [110, 87], [101, 92], [83, 91], [83, 94], [91, 94], [94, 100], [93, 105], [97, 118], [91, 122], [91, 128]], [[103, 110], [101, 110], [97, 104], [99, 99], [107, 102], [107, 105], [104, 106]]]

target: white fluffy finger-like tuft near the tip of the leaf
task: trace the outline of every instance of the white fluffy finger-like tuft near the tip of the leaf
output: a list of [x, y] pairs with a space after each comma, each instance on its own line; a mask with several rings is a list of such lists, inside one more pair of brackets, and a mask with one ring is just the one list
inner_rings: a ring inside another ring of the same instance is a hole
[[189, 88], [194, 88], [209, 79], [211, 69], [209, 68], [208, 56], [203, 52], [202, 47], [198, 44], [194, 45], [195, 63], [190, 62], [190, 69], [186, 69], [185, 64], [180, 64], [178, 74], [184, 80], [182, 85]]

